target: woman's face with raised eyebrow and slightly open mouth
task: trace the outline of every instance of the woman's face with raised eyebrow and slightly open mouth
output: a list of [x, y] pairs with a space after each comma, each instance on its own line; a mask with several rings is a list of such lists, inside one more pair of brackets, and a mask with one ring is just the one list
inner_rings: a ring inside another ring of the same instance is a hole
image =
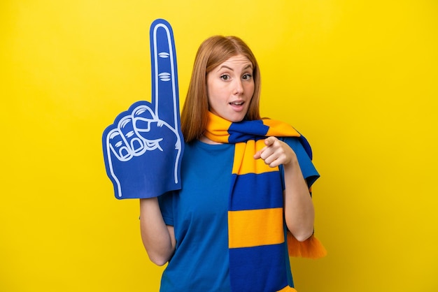
[[253, 64], [238, 54], [207, 74], [209, 110], [229, 122], [240, 122], [254, 94]]

